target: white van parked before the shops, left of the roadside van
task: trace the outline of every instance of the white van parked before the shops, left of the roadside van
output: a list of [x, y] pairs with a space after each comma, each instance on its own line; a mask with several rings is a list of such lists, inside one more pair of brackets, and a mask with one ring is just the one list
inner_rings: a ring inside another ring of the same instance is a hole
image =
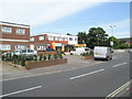
[[88, 47], [76, 47], [73, 51], [70, 51], [70, 54], [73, 55], [80, 55], [82, 53], [90, 52], [90, 48]]

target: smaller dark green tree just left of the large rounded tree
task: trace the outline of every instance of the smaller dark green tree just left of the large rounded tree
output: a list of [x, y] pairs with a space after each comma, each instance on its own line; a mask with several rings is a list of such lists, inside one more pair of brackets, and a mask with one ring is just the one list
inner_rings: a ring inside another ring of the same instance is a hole
[[88, 37], [86, 32], [78, 32], [77, 36], [78, 36], [78, 44], [87, 44]]

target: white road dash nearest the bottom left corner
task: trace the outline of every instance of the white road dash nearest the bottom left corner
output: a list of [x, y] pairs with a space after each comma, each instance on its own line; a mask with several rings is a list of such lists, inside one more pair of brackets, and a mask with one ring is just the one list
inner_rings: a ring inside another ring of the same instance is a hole
[[42, 86], [32, 87], [32, 88], [28, 88], [28, 89], [24, 89], [24, 90], [14, 91], [14, 92], [11, 92], [11, 94], [6, 94], [6, 95], [2, 95], [2, 96], [0, 96], [0, 97], [7, 97], [7, 96], [11, 96], [11, 95], [16, 95], [16, 94], [21, 94], [21, 92], [25, 92], [25, 91], [38, 89], [38, 88], [41, 88], [41, 87], [42, 87]]

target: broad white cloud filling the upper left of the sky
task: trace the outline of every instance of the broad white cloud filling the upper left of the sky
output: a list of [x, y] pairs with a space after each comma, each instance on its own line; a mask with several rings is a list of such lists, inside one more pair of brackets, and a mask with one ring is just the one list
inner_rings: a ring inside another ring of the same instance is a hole
[[2, 0], [0, 20], [32, 26], [46, 24], [110, 0]]

